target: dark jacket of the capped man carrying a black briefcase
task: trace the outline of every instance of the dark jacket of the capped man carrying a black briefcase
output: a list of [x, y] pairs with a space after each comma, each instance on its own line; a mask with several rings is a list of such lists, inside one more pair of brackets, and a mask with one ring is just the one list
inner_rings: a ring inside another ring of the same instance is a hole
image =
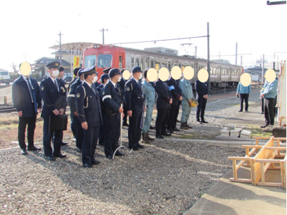
[[50, 115], [54, 115], [53, 111], [55, 109], [59, 111], [60, 109], [66, 109], [67, 106], [65, 85], [57, 78], [56, 82], [59, 86], [59, 91], [49, 76], [42, 80], [40, 84], [41, 97], [44, 102], [41, 117], [44, 119], [48, 119]]

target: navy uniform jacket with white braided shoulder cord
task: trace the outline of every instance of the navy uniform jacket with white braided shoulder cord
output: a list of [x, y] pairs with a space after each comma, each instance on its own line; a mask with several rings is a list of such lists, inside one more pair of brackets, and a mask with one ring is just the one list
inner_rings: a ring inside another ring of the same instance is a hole
[[[94, 84], [91, 85], [94, 87]], [[86, 82], [76, 88], [76, 111], [78, 120], [87, 122], [87, 126], [96, 127], [103, 125], [100, 107], [100, 95], [94, 87], [95, 93]]]

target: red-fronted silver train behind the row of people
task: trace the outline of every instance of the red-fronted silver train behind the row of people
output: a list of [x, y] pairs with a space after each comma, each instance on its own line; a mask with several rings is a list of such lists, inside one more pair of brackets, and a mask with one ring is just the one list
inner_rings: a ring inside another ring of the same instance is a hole
[[[131, 71], [133, 67], [139, 66], [142, 70], [154, 68], [159, 71], [166, 67], [169, 71], [174, 66], [184, 70], [185, 67], [193, 67], [195, 74], [190, 80], [194, 84], [198, 78], [200, 69], [207, 70], [207, 60], [202, 58], [193, 58], [193, 56], [178, 56], [176, 49], [167, 49], [164, 47], [131, 49], [127, 47], [118, 47], [116, 45], [94, 44], [87, 47], [84, 52], [84, 67], [96, 65], [96, 71], [99, 76], [103, 74], [103, 69], [114, 67], [118, 69], [126, 68]], [[236, 86], [243, 73], [243, 67], [211, 61], [211, 87], [223, 87], [225, 84]]]

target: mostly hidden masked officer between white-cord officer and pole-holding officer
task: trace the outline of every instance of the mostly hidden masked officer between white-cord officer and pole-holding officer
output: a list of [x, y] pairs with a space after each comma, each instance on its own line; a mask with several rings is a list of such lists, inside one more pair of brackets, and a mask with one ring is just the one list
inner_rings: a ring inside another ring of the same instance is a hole
[[103, 87], [105, 87], [105, 84], [107, 84], [107, 82], [109, 82], [109, 75], [106, 73], [103, 73], [103, 75], [100, 76], [100, 81], [102, 83], [96, 88], [96, 90], [100, 94], [100, 98], [101, 98], [100, 106], [102, 108], [103, 125], [100, 126], [100, 131], [98, 134], [98, 144], [100, 146], [105, 146], [105, 131], [106, 131], [108, 122], [105, 121], [105, 106], [104, 106], [103, 98], [102, 98], [102, 90], [103, 90]]

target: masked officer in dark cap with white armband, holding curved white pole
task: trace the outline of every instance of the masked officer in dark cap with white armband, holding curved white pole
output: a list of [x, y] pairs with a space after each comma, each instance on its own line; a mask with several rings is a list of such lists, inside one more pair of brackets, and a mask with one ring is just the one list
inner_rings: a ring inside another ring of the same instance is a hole
[[[120, 76], [119, 69], [111, 69], [109, 71], [109, 82], [105, 84], [102, 90], [103, 103], [105, 105], [105, 156], [108, 159], [113, 159], [114, 152], [118, 148], [118, 139], [120, 138], [120, 113], [123, 113], [123, 98], [120, 89]], [[116, 154], [123, 156], [123, 154], [117, 150]]]

